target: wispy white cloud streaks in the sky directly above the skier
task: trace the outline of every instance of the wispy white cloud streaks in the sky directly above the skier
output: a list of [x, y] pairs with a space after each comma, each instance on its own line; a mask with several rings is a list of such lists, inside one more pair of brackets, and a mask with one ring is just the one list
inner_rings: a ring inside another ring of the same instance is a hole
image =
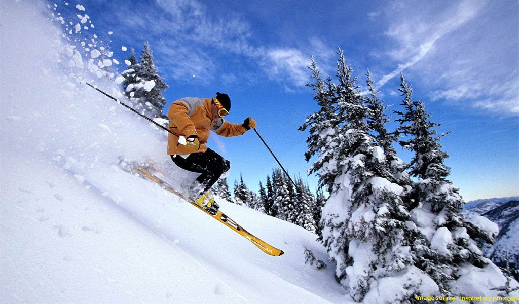
[[156, 0], [156, 4], [160, 13], [139, 4], [139, 8], [121, 7], [117, 19], [129, 39], [137, 36], [141, 40], [161, 42], [152, 45], [152, 50], [156, 57], [168, 59], [160, 61], [161, 74], [174, 79], [195, 76], [199, 81], [208, 82], [214, 80], [215, 75], [225, 81], [240, 78], [228, 71], [231, 66], [222, 65], [222, 57], [235, 56], [241, 57], [244, 65], [257, 68], [243, 72], [241, 77], [260, 79], [257, 75], [261, 74], [285, 84], [288, 81], [289, 86], [303, 86], [309, 80], [310, 49], [326, 53], [321, 51], [324, 46], [319, 39], [310, 39], [305, 50], [263, 45], [249, 22], [237, 13], [217, 15], [196, 0]]

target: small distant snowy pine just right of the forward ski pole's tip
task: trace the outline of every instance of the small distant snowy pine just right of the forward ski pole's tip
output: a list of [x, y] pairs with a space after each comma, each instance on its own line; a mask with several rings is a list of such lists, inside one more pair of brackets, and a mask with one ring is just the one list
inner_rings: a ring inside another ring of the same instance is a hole
[[301, 177], [296, 179], [295, 184], [296, 204], [294, 210], [297, 216], [294, 224], [315, 233], [317, 230], [317, 224], [313, 219], [313, 210], [316, 205], [315, 199], [313, 198], [310, 188], [303, 182]]

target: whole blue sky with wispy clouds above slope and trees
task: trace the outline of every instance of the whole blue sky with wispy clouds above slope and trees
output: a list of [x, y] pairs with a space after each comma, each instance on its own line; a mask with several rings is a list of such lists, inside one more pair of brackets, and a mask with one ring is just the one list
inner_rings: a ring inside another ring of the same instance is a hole
[[[230, 122], [254, 117], [257, 130], [293, 176], [306, 176], [307, 132], [317, 110], [307, 66], [334, 75], [337, 47], [365, 87], [399, 108], [401, 72], [424, 101], [446, 163], [466, 201], [519, 195], [519, 2], [517, 1], [88, 1], [79, 2], [99, 39], [122, 63], [148, 42], [169, 85], [168, 102], [226, 92]], [[108, 32], [112, 32], [108, 35]], [[124, 64], [119, 70], [124, 70]], [[393, 128], [390, 124], [388, 128]], [[243, 175], [257, 190], [277, 167], [256, 134], [210, 146], [231, 161], [229, 186]], [[409, 154], [400, 154], [404, 160]], [[311, 186], [315, 176], [306, 177]]]

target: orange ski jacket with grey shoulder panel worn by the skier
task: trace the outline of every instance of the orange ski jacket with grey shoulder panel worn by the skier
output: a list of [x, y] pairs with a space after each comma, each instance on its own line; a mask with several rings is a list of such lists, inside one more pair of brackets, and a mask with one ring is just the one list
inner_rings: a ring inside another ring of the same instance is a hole
[[243, 135], [247, 132], [241, 124], [230, 123], [219, 117], [212, 120], [211, 99], [186, 97], [171, 104], [168, 109], [169, 129], [186, 139], [196, 135], [200, 141], [200, 149], [191, 151], [185, 145], [179, 143], [179, 137], [168, 134], [168, 154], [184, 155], [190, 153], [205, 152], [209, 131], [225, 137]]

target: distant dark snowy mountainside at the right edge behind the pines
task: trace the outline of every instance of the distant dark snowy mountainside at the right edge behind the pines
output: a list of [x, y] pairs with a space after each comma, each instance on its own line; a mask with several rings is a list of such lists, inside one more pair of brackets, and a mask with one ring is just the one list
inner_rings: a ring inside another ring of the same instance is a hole
[[485, 245], [483, 252], [498, 266], [519, 269], [519, 197], [494, 198], [469, 202], [463, 215], [475, 213], [499, 226], [494, 245]]

